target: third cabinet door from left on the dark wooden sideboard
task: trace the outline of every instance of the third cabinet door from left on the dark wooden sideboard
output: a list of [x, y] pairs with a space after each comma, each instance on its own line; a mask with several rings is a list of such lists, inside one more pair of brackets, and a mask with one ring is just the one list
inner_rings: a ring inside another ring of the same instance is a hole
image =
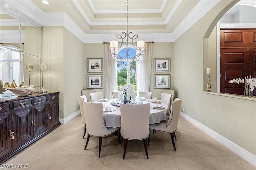
[[34, 136], [37, 136], [46, 130], [47, 123], [46, 103], [34, 105]]

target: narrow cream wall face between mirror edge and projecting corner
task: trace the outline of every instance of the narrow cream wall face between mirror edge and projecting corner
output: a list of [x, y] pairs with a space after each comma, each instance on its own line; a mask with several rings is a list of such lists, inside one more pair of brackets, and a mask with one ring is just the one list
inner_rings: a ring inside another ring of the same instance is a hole
[[[58, 91], [60, 119], [64, 118], [64, 36], [63, 26], [45, 26], [44, 86], [48, 92]], [[66, 83], [66, 82], [65, 82]]]

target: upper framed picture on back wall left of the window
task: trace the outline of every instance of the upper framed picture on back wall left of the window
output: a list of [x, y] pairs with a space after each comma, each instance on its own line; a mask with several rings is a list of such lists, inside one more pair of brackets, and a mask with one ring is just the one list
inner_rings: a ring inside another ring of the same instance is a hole
[[103, 72], [103, 58], [88, 58], [87, 72]]

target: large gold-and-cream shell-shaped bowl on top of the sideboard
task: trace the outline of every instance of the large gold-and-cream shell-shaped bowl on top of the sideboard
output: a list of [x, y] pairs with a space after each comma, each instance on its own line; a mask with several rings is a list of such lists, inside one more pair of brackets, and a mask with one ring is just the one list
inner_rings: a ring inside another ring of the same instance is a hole
[[29, 87], [24, 85], [24, 82], [22, 81], [20, 83], [20, 86], [18, 87], [15, 83], [15, 80], [12, 81], [12, 84], [6, 82], [3, 86], [4, 89], [10, 90], [14, 95], [16, 96], [29, 96], [35, 93], [35, 86], [30, 85]]

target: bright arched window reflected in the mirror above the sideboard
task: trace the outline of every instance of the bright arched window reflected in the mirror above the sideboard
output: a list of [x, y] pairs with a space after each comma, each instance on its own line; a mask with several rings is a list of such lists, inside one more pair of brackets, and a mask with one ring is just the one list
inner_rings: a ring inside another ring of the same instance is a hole
[[0, 79], [12, 83], [15, 80], [17, 85], [20, 85], [20, 53], [18, 48], [13, 45], [5, 47], [16, 51], [1, 49], [0, 51]]

